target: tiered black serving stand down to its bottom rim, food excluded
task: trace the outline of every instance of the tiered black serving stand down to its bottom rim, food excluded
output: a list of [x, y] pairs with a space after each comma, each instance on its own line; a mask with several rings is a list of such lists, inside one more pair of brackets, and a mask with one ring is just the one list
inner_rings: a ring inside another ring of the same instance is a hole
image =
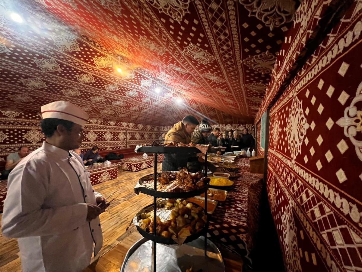
[[[177, 154], [180, 156], [188, 156], [190, 154], [196, 154], [196, 153], [201, 153], [201, 151], [196, 148], [196, 147], [140, 147], [138, 149], [138, 152], [144, 152], [144, 153], [154, 153], [155, 156], [155, 163], [154, 163], [154, 173], [153, 173], [153, 179], [154, 179], [154, 188], [153, 189], [148, 189], [146, 187], [138, 187], [138, 191], [147, 195], [151, 195], [153, 196], [153, 218], [156, 218], [156, 212], [157, 212], [157, 198], [189, 198], [189, 197], [194, 197], [197, 196], [199, 194], [205, 193], [205, 209], [204, 209], [204, 214], [206, 214], [207, 218], [208, 218], [208, 214], [207, 214], [207, 189], [209, 189], [209, 184], [205, 184], [205, 187], [202, 187], [201, 189], [197, 189], [194, 191], [188, 191], [188, 192], [181, 192], [181, 193], [169, 193], [169, 192], [164, 192], [164, 191], [157, 191], [157, 154]], [[207, 152], [205, 154], [205, 177], [207, 177]], [[148, 207], [148, 206], [147, 206]], [[205, 224], [205, 227], [193, 234], [190, 235], [186, 238], [184, 243], [190, 243], [196, 239], [200, 239], [200, 236], [204, 236], [203, 238], [203, 242], [204, 242], [204, 254], [205, 256], [207, 256], [207, 230], [209, 227], [209, 218], [207, 219], [207, 222]], [[153, 220], [153, 234], [150, 234], [148, 232], [146, 232], [145, 230], [142, 230], [142, 228], [140, 228], [139, 226], [137, 226], [137, 230], [139, 231], [139, 233], [146, 238], [147, 240], [151, 240], [152, 241], [152, 260], [151, 260], [151, 271], [156, 272], [156, 256], [157, 256], [157, 243], [161, 243], [161, 244], [177, 244], [174, 240], [172, 240], [171, 238], [164, 238], [161, 237], [160, 235], [156, 234], [156, 220]], [[120, 269], [120, 271], [126, 271], [125, 267], [126, 267], [126, 263], [127, 261], [130, 259], [132, 253], [135, 251], [135, 248], [138, 248], [140, 246], [140, 244], [144, 243], [144, 239], [136, 242], [134, 244], [134, 246], [131, 247], [130, 251], [127, 253], [125, 260], [122, 264], [122, 267]], [[199, 241], [200, 242], [200, 241]], [[209, 247], [211, 246], [211, 248], [213, 248], [214, 252], [218, 252], [218, 249], [216, 248], [216, 246], [209, 241]], [[134, 248], [135, 247], [135, 248]], [[220, 260], [222, 262], [222, 258], [220, 256]], [[222, 262], [223, 265], [223, 262]]]

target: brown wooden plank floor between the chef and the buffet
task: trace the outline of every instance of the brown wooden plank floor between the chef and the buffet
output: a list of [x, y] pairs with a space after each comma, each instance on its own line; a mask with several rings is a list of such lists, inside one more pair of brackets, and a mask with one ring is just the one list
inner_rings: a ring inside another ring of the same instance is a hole
[[[119, 271], [128, 249], [142, 238], [135, 227], [129, 227], [135, 213], [152, 203], [150, 196], [133, 192], [138, 178], [153, 173], [153, 168], [139, 172], [120, 171], [118, 178], [94, 185], [94, 190], [105, 198], [117, 188], [122, 193], [111, 203], [105, 213], [100, 215], [103, 231], [103, 247], [92, 265], [85, 271], [115, 272]], [[1, 215], [0, 215], [1, 219]], [[241, 271], [240, 257], [224, 256], [227, 271]], [[0, 234], [0, 271], [21, 271], [19, 248], [15, 239], [7, 239]]]

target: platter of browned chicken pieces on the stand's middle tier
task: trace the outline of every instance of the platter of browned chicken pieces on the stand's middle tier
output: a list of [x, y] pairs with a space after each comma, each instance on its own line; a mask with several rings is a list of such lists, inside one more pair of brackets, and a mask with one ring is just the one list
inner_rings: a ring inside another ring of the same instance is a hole
[[[174, 176], [177, 177], [177, 174], [180, 174], [183, 170], [184, 169], [181, 169], [180, 171], [176, 172], [172, 171], [157, 172], [157, 191], [154, 190], [153, 174], [149, 174], [147, 176], [143, 176], [142, 178], [140, 178], [133, 190], [136, 194], [144, 193], [161, 198], [188, 198], [204, 193], [207, 190], [207, 188], [209, 187], [210, 178], [205, 178], [205, 174], [201, 172], [198, 172], [196, 174], [189, 173], [194, 177], [195, 175], [198, 175], [198, 177], [200, 177], [199, 179], [197, 179], [197, 182], [193, 184], [194, 186], [191, 189], [188, 189], [190, 187], [184, 186], [184, 184], [181, 183], [182, 179], [179, 179], [178, 181], [174, 180], [168, 184], [161, 184], [162, 182], [161, 176], [163, 175], [165, 176], [167, 174], [169, 177], [174, 177]], [[199, 183], [199, 181], [203, 182], [203, 186], [198, 186], [202, 185], [202, 183]], [[189, 180], [186, 180], [186, 182], [189, 182]], [[180, 185], [180, 183], [181, 186], [177, 186]]]

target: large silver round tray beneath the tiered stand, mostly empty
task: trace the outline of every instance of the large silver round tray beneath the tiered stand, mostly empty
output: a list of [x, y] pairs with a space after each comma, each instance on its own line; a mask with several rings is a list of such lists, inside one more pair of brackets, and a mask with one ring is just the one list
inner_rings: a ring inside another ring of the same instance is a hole
[[[184, 272], [193, 267], [193, 271], [223, 272], [224, 261], [220, 251], [207, 239], [207, 256], [204, 254], [205, 238], [199, 237], [182, 246], [157, 244], [157, 271]], [[127, 252], [120, 272], [139, 272], [151, 270], [152, 242], [140, 239]]]

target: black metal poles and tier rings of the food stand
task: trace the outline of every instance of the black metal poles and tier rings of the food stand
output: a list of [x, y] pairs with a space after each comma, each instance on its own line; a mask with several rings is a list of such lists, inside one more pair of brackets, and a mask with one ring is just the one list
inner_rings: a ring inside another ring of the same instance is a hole
[[[138, 149], [138, 152], [144, 152], [144, 153], [154, 153], [155, 154], [155, 162], [154, 162], [154, 173], [153, 173], [153, 182], [154, 182], [154, 189], [152, 190], [153, 192], [150, 193], [148, 191], [143, 191], [142, 193], [148, 194], [148, 195], [152, 195], [153, 196], [153, 218], [156, 218], [156, 211], [157, 211], [157, 198], [175, 198], [175, 194], [174, 193], [166, 193], [166, 192], [160, 192], [157, 191], [157, 154], [161, 154], [161, 153], [168, 153], [168, 154], [196, 154], [196, 153], [201, 153], [201, 151], [196, 148], [196, 147], [140, 147]], [[205, 154], [205, 177], [207, 177], [207, 152]], [[207, 191], [207, 189], [209, 188], [209, 186], [205, 186], [205, 188], [203, 188], [203, 190], [205, 190], [205, 192]], [[185, 192], [185, 193], [178, 193], [179, 197], [178, 198], [184, 198], [183, 196], [185, 196], [185, 198], [188, 197], [193, 197], [196, 195], [200, 194], [200, 190], [195, 190], [194, 194], [192, 194], [191, 192]], [[205, 193], [205, 214], [207, 215], [207, 193]], [[153, 235], [147, 235], [147, 239], [152, 240], [152, 267], [151, 270], [153, 270], [153, 272], [156, 272], [156, 256], [157, 256], [157, 241], [159, 241], [159, 237], [157, 236], [156, 233], [156, 220], [153, 220]], [[207, 230], [209, 228], [209, 217], [207, 217], [207, 222], [205, 224], [205, 229], [202, 231], [202, 233], [204, 234], [205, 237], [205, 256], [207, 256]], [[137, 228], [139, 230], [139, 228]], [[143, 235], [144, 233], [141, 233], [141, 235]], [[197, 239], [200, 235], [196, 235], [195, 237], [193, 237], [194, 239]], [[191, 242], [191, 239], [188, 239], [187, 242]]]

